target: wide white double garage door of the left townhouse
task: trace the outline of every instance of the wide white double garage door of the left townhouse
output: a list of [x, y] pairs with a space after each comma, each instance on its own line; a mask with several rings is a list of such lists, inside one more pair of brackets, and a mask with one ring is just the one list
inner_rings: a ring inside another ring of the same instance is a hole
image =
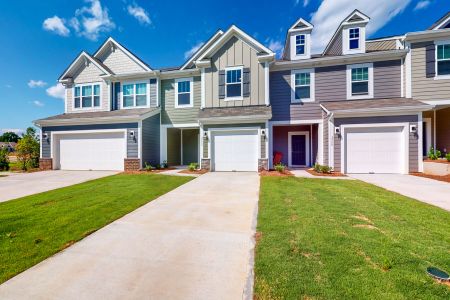
[[123, 132], [55, 136], [57, 168], [61, 170], [123, 170]]

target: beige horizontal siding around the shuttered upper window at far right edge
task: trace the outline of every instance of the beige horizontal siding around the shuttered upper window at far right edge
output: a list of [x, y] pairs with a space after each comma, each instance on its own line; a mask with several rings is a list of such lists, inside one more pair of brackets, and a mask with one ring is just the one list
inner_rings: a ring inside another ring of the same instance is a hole
[[411, 91], [416, 100], [449, 100], [450, 79], [426, 77], [426, 47], [434, 41], [411, 45]]

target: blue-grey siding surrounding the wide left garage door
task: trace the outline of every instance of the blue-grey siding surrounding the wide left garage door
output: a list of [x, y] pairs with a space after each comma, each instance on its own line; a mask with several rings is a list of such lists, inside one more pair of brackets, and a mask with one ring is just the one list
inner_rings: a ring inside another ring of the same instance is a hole
[[[67, 125], [67, 126], [50, 126], [42, 127], [42, 133], [47, 133], [48, 142], [42, 143], [42, 157], [50, 158], [51, 156], [51, 133], [57, 131], [77, 131], [77, 130], [101, 130], [101, 129], [126, 129], [127, 130], [127, 157], [138, 157], [138, 123], [120, 123], [120, 124], [93, 124], [93, 125]], [[135, 139], [130, 137], [130, 131], [134, 130]]]

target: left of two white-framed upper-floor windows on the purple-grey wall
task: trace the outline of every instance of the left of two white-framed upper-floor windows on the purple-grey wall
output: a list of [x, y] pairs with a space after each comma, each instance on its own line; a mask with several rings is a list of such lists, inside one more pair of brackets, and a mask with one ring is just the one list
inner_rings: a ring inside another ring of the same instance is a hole
[[314, 70], [292, 71], [291, 86], [291, 102], [314, 101]]

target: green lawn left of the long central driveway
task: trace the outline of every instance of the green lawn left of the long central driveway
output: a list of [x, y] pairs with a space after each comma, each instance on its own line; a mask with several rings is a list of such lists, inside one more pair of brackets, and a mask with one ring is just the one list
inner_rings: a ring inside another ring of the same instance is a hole
[[191, 179], [119, 174], [0, 203], [0, 283]]

